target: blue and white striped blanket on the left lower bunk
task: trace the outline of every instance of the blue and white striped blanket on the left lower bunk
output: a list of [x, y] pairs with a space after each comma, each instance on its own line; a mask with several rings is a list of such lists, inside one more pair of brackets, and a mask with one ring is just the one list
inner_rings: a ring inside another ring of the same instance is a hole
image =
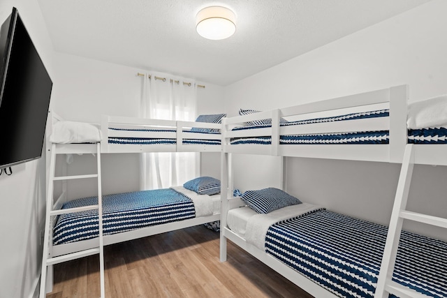
[[[98, 204], [97, 197], [66, 202], [62, 209]], [[172, 188], [103, 196], [103, 234], [196, 217], [193, 201]], [[98, 237], [98, 210], [63, 214], [54, 226], [54, 245]]]

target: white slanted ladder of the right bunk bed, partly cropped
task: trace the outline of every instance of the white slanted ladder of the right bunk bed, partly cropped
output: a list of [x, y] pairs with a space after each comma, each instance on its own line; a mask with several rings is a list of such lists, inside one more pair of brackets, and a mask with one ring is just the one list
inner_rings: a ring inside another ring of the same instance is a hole
[[447, 228], [446, 218], [439, 218], [406, 210], [406, 202], [408, 200], [411, 176], [413, 175], [414, 167], [413, 146], [413, 144], [407, 144], [405, 147], [404, 160], [402, 161], [393, 212], [390, 218], [390, 227], [388, 228], [377, 288], [374, 295], [375, 298], [388, 297], [388, 293], [394, 294], [397, 297], [428, 297], [392, 281], [397, 248], [399, 246], [404, 219]]

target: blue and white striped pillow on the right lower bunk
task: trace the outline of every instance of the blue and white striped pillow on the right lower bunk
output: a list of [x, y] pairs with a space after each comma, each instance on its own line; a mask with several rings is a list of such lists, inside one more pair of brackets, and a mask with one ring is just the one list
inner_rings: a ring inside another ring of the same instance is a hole
[[246, 191], [241, 199], [254, 211], [268, 214], [270, 211], [301, 204], [298, 198], [278, 188], [263, 188], [258, 191]]

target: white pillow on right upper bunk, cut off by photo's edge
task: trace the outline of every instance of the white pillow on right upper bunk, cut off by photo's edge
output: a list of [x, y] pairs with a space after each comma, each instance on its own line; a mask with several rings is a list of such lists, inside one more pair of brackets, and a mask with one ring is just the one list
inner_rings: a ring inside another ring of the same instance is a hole
[[447, 126], [447, 94], [410, 103], [406, 125], [410, 129]]

